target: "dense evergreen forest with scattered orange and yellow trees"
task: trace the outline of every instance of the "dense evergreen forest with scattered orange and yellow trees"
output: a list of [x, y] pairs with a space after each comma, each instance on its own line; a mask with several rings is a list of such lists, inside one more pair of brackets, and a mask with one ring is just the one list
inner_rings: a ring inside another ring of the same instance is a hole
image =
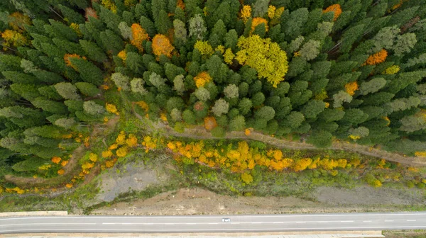
[[424, 0], [4, 0], [0, 32], [0, 166], [16, 171], [129, 105], [212, 137], [426, 151]]

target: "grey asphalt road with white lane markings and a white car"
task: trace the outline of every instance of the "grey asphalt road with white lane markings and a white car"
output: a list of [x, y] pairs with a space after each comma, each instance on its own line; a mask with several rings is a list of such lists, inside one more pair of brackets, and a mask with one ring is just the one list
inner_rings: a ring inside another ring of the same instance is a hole
[[[222, 222], [230, 218], [230, 222]], [[43, 216], [0, 218], [0, 234], [26, 232], [288, 232], [426, 229], [426, 212], [212, 216]]]

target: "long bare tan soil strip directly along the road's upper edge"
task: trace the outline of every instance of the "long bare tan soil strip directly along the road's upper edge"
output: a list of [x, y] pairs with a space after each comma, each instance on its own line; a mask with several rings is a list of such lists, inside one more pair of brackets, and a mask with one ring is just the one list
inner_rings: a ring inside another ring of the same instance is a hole
[[[374, 188], [373, 188], [374, 189]], [[362, 191], [362, 192], [361, 192]], [[201, 188], [181, 188], [161, 193], [146, 200], [122, 202], [109, 208], [93, 210], [101, 215], [219, 215], [219, 214], [279, 214], [306, 212], [386, 212], [397, 211], [401, 205], [425, 205], [424, 195], [412, 191], [368, 191], [364, 187], [353, 191], [320, 188], [315, 200], [296, 197], [232, 197], [222, 196]], [[384, 196], [390, 196], [383, 199]], [[405, 198], [405, 199], [403, 199]]]

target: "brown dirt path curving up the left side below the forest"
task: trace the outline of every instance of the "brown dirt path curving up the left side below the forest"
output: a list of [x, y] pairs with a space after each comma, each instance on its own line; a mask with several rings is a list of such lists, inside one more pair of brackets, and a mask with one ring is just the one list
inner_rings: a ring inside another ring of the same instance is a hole
[[[108, 121], [105, 127], [114, 128], [118, 121], [119, 121], [119, 116], [111, 118], [111, 120]], [[100, 130], [99, 126], [95, 126], [90, 137], [91, 138], [97, 137], [102, 132], [103, 131]], [[44, 178], [20, 177], [20, 176], [14, 176], [11, 174], [6, 174], [4, 176], [4, 179], [6, 179], [6, 181], [16, 184], [16, 186], [18, 186], [19, 188], [60, 186], [60, 184], [70, 181], [72, 179], [72, 176], [75, 176], [75, 174], [78, 174], [80, 172], [78, 160], [83, 156], [85, 149], [86, 147], [84, 147], [84, 145], [80, 145], [80, 147], [78, 147], [77, 149], [74, 150], [74, 152], [72, 152], [72, 157], [70, 161], [68, 162], [67, 165], [63, 167], [65, 172], [64, 174], [62, 174], [62, 176], [57, 176], [51, 179], [44, 179]], [[93, 179], [93, 178], [90, 178], [90, 179]]]

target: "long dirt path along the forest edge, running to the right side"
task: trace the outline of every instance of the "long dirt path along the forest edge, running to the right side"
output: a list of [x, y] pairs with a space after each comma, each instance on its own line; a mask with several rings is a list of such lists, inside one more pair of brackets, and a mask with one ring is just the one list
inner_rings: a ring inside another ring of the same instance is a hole
[[[180, 133], [180, 132], [176, 132], [175, 130], [170, 128], [168, 125], [165, 125], [164, 123], [147, 122], [148, 119], [143, 118], [141, 115], [138, 115], [138, 113], [135, 112], [135, 115], [140, 120], [143, 120], [144, 122], [146, 122], [145, 124], [151, 125], [149, 128], [146, 128], [147, 130], [151, 130], [151, 131], [164, 130], [165, 135], [168, 135], [168, 136], [187, 137], [187, 138], [200, 139], [200, 140], [220, 139], [217, 137], [212, 137], [212, 135], [201, 126], [198, 126], [197, 128], [185, 128], [185, 132]], [[309, 145], [305, 142], [293, 142], [289, 140], [282, 140], [282, 139], [278, 139], [268, 135], [263, 135], [262, 133], [254, 132], [254, 131], [251, 132], [250, 135], [245, 135], [244, 132], [227, 132], [224, 138], [257, 140], [257, 141], [266, 143], [268, 145], [273, 145], [275, 147], [285, 148], [285, 149], [320, 149], [320, 148], [314, 147], [313, 145]], [[365, 145], [351, 144], [349, 142], [347, 143], [333, 142], [332, 147], [329, 147], [327, 149], [339, 149], [339, 150], [346, 150], [350, 152], [356, 152], [356, 153], [365, 154], [371, 157], [383, 158], [391, 162], [398, 162], [400, 164], [405, 164], [408, 166], [426, 166], [426, 158], [405, 157], [400, 154], [386, 152], [381, 149], [373, 149]]]

